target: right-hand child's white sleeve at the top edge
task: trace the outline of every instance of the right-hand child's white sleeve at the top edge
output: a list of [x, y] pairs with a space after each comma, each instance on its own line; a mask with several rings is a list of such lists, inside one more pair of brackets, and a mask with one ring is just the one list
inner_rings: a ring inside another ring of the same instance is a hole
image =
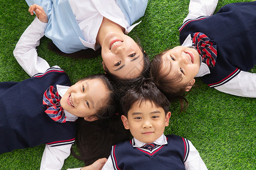
[[183, 20], [183, 23], [199, 16], [212, 16], [217, 3], [218, 0], [191, 0], [188, 6], [188, 16]]

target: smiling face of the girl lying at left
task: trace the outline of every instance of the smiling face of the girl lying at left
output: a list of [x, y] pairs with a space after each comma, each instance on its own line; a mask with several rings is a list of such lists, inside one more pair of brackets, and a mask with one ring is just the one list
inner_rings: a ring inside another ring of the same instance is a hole
[[109, 91], [101, 79], [87, 79], [69, 87], [61, 98], [60, 105], [77, 117], [94, 121], [97, 120], [94, 114], [106, 104], [108, 98]]

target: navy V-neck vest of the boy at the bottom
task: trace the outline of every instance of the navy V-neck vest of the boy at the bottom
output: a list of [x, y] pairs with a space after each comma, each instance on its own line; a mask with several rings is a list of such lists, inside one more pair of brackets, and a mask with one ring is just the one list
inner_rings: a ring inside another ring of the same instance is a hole
[[167, 135], [167, 145], [152, 153], [133, 147], [131, 141], [112, 147], [110, 156], [114, 169], [185, 169], [184, 162], [189, 153], [188, 141], [176, 135]]

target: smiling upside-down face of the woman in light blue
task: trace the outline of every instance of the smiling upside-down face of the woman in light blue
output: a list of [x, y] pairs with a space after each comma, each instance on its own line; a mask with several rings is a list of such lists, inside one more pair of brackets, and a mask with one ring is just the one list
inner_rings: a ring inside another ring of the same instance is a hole
[[109, 32], [101, 45], [103, 65], [120, 79], [133, 79], [144, 68], [143, 53], [131, 37], [123, 33]]

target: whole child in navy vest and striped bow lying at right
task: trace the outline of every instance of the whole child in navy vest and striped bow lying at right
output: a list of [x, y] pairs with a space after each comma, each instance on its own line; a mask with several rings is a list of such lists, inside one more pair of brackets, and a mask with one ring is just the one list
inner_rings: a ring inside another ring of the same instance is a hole
[[[179, 28], [180, 44], [151, 62], [156, 86], [168, 97], [189, 91], [200, 76], [218, 91], [256, 97], [256, 2], [231, 3], [212, 15], [218, 1], [191, 0]], [[203, 61], [203, 62], [202, 62]]]

